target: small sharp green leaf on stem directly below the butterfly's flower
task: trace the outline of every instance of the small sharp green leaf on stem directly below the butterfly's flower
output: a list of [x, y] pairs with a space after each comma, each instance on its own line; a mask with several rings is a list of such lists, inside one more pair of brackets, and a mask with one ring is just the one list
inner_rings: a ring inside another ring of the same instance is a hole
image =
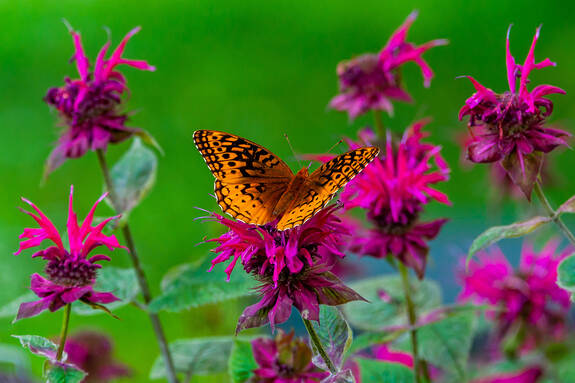
[[[319, 309], [319, 323], [312, 321], [321, 344], [329, 358], [339, 369], [343, 363], [343, 355], [350, 348], [353, 341], [353, 332], [343, 315], [336, 307], [321, 305]], [[328, 370], [323, 358], [317, 352], [313, 342], [310, 342], [313, 350], [313, 364], [323, 370]]]

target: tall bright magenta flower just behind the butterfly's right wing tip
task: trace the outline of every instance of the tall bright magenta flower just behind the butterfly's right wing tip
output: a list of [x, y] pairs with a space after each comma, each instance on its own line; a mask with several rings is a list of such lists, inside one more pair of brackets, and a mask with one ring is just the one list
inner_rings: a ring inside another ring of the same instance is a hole
[[[446, 222], [438, 219], [420, 222], [425, 204], [432, 200], [449, 204], [447, 196], [431, 187], [449, 178], [449, 168], [441, 157], [441, 147], [422, 139], [425, 121], [407, 129], [399, 143], [388, 135], [386, 150], [352, 180], [341, 194], [346, 210], [360, 207], [367, 211], [373, 228], [356, 225], [351, 250], [359, 255], [383, 258], [393, 255], [414, 269], [420, 278], [425, 273], [429, 248]], [[375, 140], [370, 130], [359, 134], [360, 141]], [[349, 141], [352, 148], [359, 143]]]

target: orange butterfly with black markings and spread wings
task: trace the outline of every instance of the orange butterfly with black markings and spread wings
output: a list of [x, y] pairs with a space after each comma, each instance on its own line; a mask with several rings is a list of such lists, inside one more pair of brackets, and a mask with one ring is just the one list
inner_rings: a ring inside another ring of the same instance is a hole
[[277, 229], [303, 224], [320, 211], [379, 153], [364, 147], [341, 154], [309, 174], [293, 174], [278, 156], [235, 134], [194, 132], [196, 148], [216, 178], [214, 191], [222, 210], [239, 221]]

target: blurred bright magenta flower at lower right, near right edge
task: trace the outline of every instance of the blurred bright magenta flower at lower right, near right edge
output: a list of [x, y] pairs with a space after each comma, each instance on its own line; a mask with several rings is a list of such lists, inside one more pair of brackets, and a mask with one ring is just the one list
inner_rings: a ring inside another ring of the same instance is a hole
[[497, 325], [498, 338], [519, 334], [518, 347], [560, 338], [570, 300], [569, 293], [557, 286], [557, 266], [573, 250], [567, 248], [556, 255], [558, 243], [549, 241], [540, 251], [524, 245], [518, 270], [513, 270], [496, 248], [480, 254], [462, 274], [459, 299], [493, 305], [494, 310], [487, 314]]

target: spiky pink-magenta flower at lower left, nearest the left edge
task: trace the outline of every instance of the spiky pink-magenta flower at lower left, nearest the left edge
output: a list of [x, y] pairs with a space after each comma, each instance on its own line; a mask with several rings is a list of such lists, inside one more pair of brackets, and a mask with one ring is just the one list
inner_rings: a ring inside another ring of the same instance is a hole
[[48, 278], [39, 274], [32, 275], [30, 288], [41, 299], [22, 303], [16, 319], [32, 317], [44, 310], [53, 312], [77, 300], [94, 308], [103, 308], [102, 304], [118, 300], [112, 293], [94, 291], [98, 269], [102, 267], [97, 262], [109, 261], [110, 257], [103, 254], [89, 256], [100, 246], [106, 246], [109, 250], [122, 247], [115, 236], [102, 233], [104, 227], [118, 217], [107, 218], [92, 226], [96, 207], [105, 197], [106, 194], [96, 201], [79, 226], [76, 213], [72, 209], [73, 187], [70, 188], [67, 223], [69, 250], [64, 247], [60, 233], [48, 217], [32, 202], [22, 198], [35, 211], [31, 213], [24, 210], [24, 213], [34, 218], [40, 227], [24, 229], [20, 235], [23, 240], [14, 254], [18, 255], [25, 249], [40, 246], [46, 239], [52, 241], [55, 246], [39, 250], [32, 255], [33, 258], [41, 257], [48, 261], [44, 269]]

